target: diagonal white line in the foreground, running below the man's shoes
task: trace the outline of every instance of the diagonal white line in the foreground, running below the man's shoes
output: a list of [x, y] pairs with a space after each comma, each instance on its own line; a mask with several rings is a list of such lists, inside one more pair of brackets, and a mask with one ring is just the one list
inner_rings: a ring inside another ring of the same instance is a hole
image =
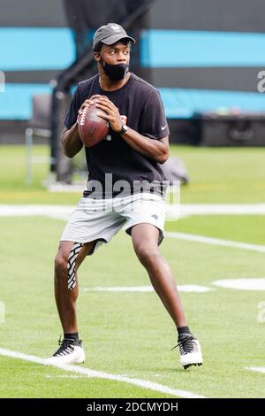
[[[4, 357], [19, 358], [24, 361], [29, 361], [35, 364], [42, 364], [42, 366], [47, 366], [46, 359], [35, 357], [33, 355], [22, 354], [21, 352], [5, 350], [4, 348], [0, 348], [0, 355], [3, 355]], [[87, 377], [95, 377], [98, 379], [126, 382], [128, 384], [133, 384], [143, 389], [159, 391], [160, 393], [164, 393], [166, 395], [170, 395], [173, 397], [206, 398], [203, 396], [196, 395], [192, 393], [191, 391], [171, 389], [168, 386], [163, 386], [163, 384], [158, 384], [154, 381], [134, 379], [131, 377], [125, 377], [123, 375], [118, 375], [118, 374], [103, 373], [102, 371], [90, 370], [89, 368], [86, 368], [86, 367], [70, 366], [70, 365], [62, 365], [62, 366], [55, 366], [55, 367], [60, 368], [61, 370], [64, 370], [70, 373], [86, 375]]]

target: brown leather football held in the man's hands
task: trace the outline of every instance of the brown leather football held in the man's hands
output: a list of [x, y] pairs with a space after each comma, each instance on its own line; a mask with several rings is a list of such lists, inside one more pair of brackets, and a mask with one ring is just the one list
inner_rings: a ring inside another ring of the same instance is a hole
[[87, 147], [95, 146], [109, 135], [109, 123], [97, 115], [99, 112], [102, 110], [92, 104], [79, 114], [79, 136]]

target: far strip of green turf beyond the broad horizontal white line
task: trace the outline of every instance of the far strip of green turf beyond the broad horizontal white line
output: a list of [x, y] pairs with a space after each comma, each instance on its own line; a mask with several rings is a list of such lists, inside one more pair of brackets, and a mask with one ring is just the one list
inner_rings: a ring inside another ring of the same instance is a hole
[[[48, 156], [49, 149], [34, 146], [34, 156]], [[171, 146], [171, 156], [183, 158], [191, 176], [181, 200], [186, 204], [254, 204], [265, 199], [265, 149], [209, 149]], [[48, 166], [34, 165], [34, 183], [25, 184], [24, 146], [0, 147], [0, 204], [75, 204], [77, 194], [47, 192], [42, 181]]]

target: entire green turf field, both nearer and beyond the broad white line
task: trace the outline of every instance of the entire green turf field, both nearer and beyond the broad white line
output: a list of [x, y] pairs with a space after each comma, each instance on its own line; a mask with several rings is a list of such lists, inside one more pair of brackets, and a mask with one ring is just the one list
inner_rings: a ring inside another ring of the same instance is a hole
[[[26, 186], [23, 151], [22, 147], [0, 147], [0, 204], [78, 201], [78, 194], [50, 194], [43, 189], [44, 165], [34, 166], [34, 185]], [[34, 151], [47, 153], [44, 147]], [[172, 147], [171, 154], [184, 158], [191, 175], [191, 184], [181, 193], [183, 203], [265, 203], [265, 149]], [[212, 283], [265, 277], [264, 252], [255, 250], [164, 239], [161, 250], [178, 285], [211, 289], [181, 293], [189, 325], [201, 341], [201, 367], [185, 372], [178, 363], [178, 351], [170, 351], [177, 341], [176, 330], [155, 293], [92, 290], [149, 286], [124, 231], [87, 258], [79, 270], [79, 333], [87, 360], [78, 367], [103, 372], [103, 378], [1, 354], [6, 349], [46, 358], [57, 348], [61, 329], [52, 269], [64, 224], [47, 217], [0, 216], [0, 302], [5, 306], [4, 322], [0, 320], [0, 397], [265, 396], [265, 374], [246, 369], [265, 367], [265, 322], [258, 320], [264, 291], [224, 289]], [[195, 215], [170, 221], [166, 229], [265, 245], [263, 215]], [[108, 375], [118, 376], [117, 380]], [[140, 387], [133, 383], [135, 379], [162, 388]]]

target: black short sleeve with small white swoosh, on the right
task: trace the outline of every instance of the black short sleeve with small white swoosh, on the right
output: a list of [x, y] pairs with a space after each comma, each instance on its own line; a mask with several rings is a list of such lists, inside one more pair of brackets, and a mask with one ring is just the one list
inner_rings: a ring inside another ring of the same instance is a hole
[[153, 91], [144, 104], [140, 115], [140, 135], [162, 139], [170, 134], [163, 103], [158, 91]]

